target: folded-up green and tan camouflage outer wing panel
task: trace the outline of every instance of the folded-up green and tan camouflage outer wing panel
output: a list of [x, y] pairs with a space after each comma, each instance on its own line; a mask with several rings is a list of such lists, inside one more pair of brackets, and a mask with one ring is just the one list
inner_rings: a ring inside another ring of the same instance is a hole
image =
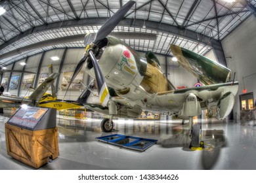
[[196, 76], [205, 85], [224, 83], [230, 79], [230, 69], [211, 59], [174, 44], [171, 44], [171, 52], [178, 59], [182, 67]]

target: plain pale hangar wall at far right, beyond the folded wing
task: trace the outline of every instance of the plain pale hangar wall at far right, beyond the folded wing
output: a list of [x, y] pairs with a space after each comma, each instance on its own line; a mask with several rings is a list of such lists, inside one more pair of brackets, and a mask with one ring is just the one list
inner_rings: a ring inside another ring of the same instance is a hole
[[[228, 35], [222, 42], [228, 68], [232, 71], [232, 78], [239, 82], [238, 94], [234, 105], [234, 114], [240, 114], [239, 95], [253, 92], [256, 95], [256, 18], [250, 16], [239, 27]], [[244, 82], [243, 82], [244, 78]]]

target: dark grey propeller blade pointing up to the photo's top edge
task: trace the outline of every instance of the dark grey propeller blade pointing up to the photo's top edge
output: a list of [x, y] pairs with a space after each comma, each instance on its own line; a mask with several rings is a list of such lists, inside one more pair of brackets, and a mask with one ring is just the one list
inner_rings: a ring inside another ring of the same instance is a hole
[[107, 37], [135, 3], [135, 1], [128, 1], [123, 7], [119, 8], [119, 10], [117, 10], [117, 12], [111, 16], [102, 27], [100, 27], [96, 34], [95, 41], [93, 42], [96, 44], [98, 41]]

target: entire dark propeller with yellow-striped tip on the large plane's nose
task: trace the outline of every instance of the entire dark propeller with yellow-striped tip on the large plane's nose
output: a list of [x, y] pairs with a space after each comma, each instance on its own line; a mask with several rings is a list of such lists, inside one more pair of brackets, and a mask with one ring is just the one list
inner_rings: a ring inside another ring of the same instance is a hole
[[[107, 105], [110, 95], [108, 92], [108, 88], [106, 86], [104, 75], [100, 70], [100, 66], [98, 65], [98, 61], [95, 58], [95, 54], [93, 51], [98, 46], [98, 43], [113, 31], [116, 25], [119, 24], [121, 19], [130, 10], [130, 8], [133, 7], [134, 4], [135, 4], [135, 1], [128, 1], [125, 5], [123, 5], [123, 7], [117, 10], [117, 12], [113, 16], [111, 16], [110, 19], [108, 19], [108, 21], [102, 25], [102, 27], [100, 27], [100, 29], [98, 30], [98, 33], [96, 33], [96, 37], [94, 41], [91, 42], [91, 44], [88, 44], [87, 47], [85, 48], [85, 54], [77, 64], [74, 74], [70, 80], [70, 84], [72, 84], [72, 82], [75, 79], [75, 76], [77, 76], [79, 71], [82, 69], [83, 64], [85, 63], [87, 58], [91, 58], [91, 61], [93, 63], [93, 68], [95, 71], [95, 80], [96, 80], [98, 95], [100, 97], [100, 103], [102, 104], [103, 107]], [[87, 36], [85, 36], [85, 44], [87, 44], [87, 42], [91, 39], [90, 34], [87, 34]], [[68, 88], [70, 88], [70, 84], [68, 85]]]

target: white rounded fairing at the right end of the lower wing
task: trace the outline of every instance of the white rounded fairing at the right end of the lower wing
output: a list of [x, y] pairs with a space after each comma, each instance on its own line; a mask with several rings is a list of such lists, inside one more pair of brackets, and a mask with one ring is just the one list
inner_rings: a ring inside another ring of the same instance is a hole
[[225, 93], [219, 103], [217, 104], [216, 118], [218, 120], [223, 120], [230, 114], [232, 108], [234, 107], [234, 95], [232, 92]]

